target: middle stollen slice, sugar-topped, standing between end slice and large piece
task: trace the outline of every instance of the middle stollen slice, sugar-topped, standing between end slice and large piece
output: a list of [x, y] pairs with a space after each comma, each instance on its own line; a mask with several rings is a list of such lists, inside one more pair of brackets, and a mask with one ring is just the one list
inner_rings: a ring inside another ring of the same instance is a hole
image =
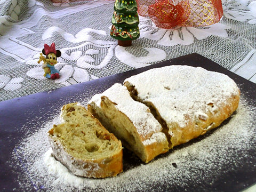
[[119, 83], [94, 95], [88, 109], [143, 162], [148, 163], [169, 149], [167, 138], [161, 132], [162, 126], [149, 108], [134, 101], [126, 87]]

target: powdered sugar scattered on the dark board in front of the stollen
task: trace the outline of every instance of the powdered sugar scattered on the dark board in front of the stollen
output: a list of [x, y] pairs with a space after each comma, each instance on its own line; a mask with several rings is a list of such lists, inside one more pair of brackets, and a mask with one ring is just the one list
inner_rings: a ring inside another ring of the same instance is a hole
[[252, 163], [255, 111], [242, 95], [236, 113], [222, 126], [148, 164], [125, 151], [124, 172], [106, 179], [76, 177], [51, 156], [46, 133], [58, 121], [56, 117], [21, 141], [13, 151], [12, 164], [22, 170], [19, 183], [23, 191], [184, 191], [193, 190], [193, 186], [201, 191], [214, 189], [218, 179], [234, 170], [243, 170], [245, 165], [256, 170]]

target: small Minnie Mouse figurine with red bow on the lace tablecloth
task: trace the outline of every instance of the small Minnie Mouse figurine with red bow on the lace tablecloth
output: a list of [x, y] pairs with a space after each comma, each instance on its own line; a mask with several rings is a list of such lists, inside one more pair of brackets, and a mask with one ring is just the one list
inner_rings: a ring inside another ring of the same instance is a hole
[[[42, 53], [46, 55], [45, 58]], [[55, 50], [55, 43], [52, 43], [51, 46], [44, 44], [42, 53], [40, 53], [40, 57], [37, 62], [44, 62], [42, 66], [44, 69], [44, 77], [50, 79], [60, 78], [60, 72], [55, 69], [54, 65], [58, 62], [57, 57], [60, 57], [61, 52], [59, 50]]]

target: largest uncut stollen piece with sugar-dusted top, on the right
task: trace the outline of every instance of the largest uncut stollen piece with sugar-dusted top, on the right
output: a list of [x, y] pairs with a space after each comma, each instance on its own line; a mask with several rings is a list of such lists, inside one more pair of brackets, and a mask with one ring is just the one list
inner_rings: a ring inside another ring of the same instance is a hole
[[125, 79], [124, 85], [162, 124], [170, 148], [219, 126], [239, 103], [233, 79], [200, 67], [150, 69]]

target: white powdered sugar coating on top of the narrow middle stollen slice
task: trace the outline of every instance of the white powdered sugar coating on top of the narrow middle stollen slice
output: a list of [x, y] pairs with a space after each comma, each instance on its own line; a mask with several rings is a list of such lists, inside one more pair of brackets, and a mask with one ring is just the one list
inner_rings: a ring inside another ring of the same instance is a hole
[[[95, 102], [100, 107], [99, 99], [102, 96], [106, 96], [110, 101], [116, 103], [115, 107], [130, 119], [142, 138], [147, 140], [153, 133], [161, 132], [162, 126], [150, 113], [149, 108], [134, 101], [125, 86], [116, 83], [102, 94], [94, 95], [89, 103]], [[165, 135], [163, 134], [161, 137], [165, 137]], [[147, 143], [149, 144], [149, 142]]]

